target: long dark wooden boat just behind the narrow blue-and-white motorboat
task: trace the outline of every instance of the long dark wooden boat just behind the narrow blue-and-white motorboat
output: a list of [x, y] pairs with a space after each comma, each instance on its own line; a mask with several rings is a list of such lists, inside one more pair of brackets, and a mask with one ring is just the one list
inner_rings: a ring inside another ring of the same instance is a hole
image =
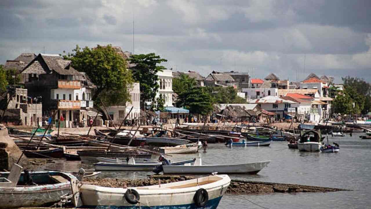
[[84, 162], [92, 162], [98, 163], [96, 160], [97, 157], [105, 157], [105, 158], [127, 158], [127, 157], [135, 157], [135, 158], [151, 158], [152, 154], [150, 152], [142, 152], [142, 151], [119, 151], [119, 150], [80, 150], [77, 151], [77, 154], [80, 156], [81, 161]]

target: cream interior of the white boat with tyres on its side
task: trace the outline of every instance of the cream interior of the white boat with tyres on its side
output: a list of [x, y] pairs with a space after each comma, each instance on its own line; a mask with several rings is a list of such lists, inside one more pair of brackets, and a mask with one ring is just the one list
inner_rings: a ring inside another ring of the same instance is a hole
[[188, 188], [188, 187], [195, 187], [195, 186], [201, 186], [205, 184], [211, 184], [216, 181], [220, 181], [223, 178], [219, 176], [207, 176], [202, 177], [198, 179], [191, 179], [187, 181], [179, 181], [169, 184], [159, 184], [159, 185], [153, 185], [153, 186], [147, 186], [147, 187], [136, 187], [135, 189], [141, 190], [141, 189], [181, 189], [181, 188]]

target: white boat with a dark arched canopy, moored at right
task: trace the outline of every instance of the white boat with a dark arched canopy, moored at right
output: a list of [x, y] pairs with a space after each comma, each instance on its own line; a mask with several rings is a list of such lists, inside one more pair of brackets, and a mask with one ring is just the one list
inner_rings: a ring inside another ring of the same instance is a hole
[[321, 148], [321, 132], [320, 131], [307, 131], [298, 141], [299, 151], [313, 151], [319, 152]]

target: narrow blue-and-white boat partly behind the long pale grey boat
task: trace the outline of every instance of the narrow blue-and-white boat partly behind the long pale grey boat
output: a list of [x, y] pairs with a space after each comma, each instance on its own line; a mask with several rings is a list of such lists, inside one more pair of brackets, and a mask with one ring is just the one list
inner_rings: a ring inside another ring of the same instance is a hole
[[[194, 163], [196, 158], [192, 160], [179, 161], [171, 163], [171, 165], [184, 165], [186, 163]], [[96, 171], [152, 171], [156, 166], [160, 166], [161, 163], [94, 163]]]

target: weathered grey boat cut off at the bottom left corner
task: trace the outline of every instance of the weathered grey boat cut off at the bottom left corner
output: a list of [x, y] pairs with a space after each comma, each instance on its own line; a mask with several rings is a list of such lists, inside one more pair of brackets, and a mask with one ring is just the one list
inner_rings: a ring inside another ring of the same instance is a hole
[[[14, 166], [14, 165], [13, 165]], [[60, 196], [70, 193], [70, 180], [76, 179], [69, 173], [57, 171], [30, 172], [37, 186], [27, 186], [27, 175], [21, 173], [16, 187], [4, 187], [9, 172], [0, 172], [0, 208], [39, 207], [60, 201]]]

